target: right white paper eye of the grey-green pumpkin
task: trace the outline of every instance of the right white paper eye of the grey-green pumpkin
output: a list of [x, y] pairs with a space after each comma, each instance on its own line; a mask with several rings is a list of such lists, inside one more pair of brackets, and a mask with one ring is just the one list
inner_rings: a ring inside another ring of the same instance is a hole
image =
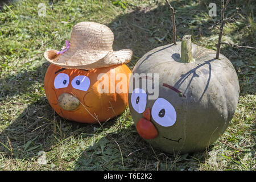
[[174, 125], [177, 117], [174, 106], [164, 98], [155, 101], [151, 113], [154, 121], [164, 127]]

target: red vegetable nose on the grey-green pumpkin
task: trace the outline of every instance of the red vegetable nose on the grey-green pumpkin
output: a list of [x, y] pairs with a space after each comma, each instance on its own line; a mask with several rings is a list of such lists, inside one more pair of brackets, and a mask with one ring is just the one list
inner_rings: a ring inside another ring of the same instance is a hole
[[139, 119], [136, 128], [138, 134], [144, 139], [154, 139], [158, 136], [158, 130], [156, 130], [153, 123], [150, 121], [150, 109], [147, 108], [144, 113], [143, 117]]

